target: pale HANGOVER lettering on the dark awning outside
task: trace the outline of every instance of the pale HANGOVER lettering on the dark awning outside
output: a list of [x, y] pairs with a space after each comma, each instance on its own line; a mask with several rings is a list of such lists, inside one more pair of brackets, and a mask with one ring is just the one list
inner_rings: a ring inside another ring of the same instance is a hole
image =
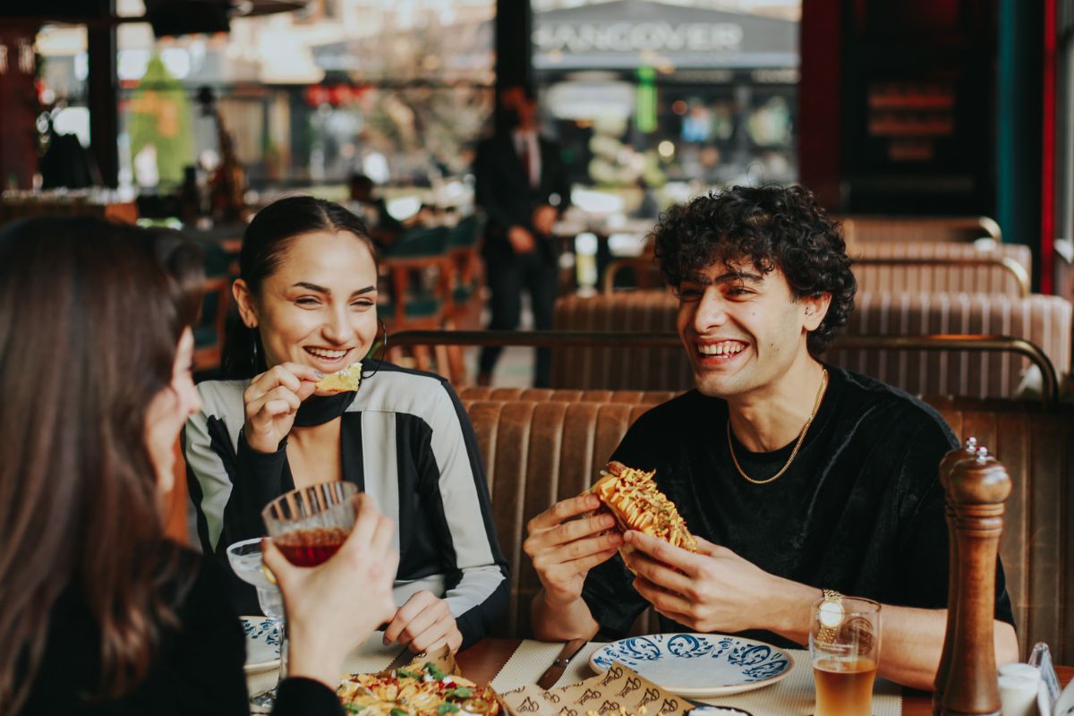
[[534, 44], [545, 53], [720, 53], [738, 50], [742, 34], [734, 23], [549, 23], [538, 26]]

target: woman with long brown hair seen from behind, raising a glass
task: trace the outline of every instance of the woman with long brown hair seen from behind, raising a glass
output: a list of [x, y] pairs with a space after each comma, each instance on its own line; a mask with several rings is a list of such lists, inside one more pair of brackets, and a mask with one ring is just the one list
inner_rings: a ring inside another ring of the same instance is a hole
[[[248, 713], [226, 575], [168, 541], [161, 512], [199, 408], [200, 284], [200, 252], [175, 234], [0, 232], [0, 713]], [[394, 612], [394, 527], [367, 503], [358, 525], [316, 569], [266, 544], [291, 629], [277, 714], [342, 713], [344, 657]]]

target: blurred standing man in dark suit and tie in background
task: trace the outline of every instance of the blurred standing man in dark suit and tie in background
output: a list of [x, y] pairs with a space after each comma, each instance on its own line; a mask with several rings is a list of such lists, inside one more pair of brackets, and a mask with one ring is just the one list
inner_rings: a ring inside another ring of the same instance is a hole
[[[488, 216], [484, 261], [492, 293], [490, 330], [519, 327], [522, 291], [529, 292], [534, 325], [552, 327], [558, 250], [552, 224], [567, 206], [569, 184], [560, 147], [540, 136], [537, 101], [529, 87], [499, 96], [505, 129], [477, 148], [477, 203]], [[478, 383], [488, 385], [499, 348], [481, 352]], [[534, 385], [549, 384], [550, 352], [537, 349]]]

